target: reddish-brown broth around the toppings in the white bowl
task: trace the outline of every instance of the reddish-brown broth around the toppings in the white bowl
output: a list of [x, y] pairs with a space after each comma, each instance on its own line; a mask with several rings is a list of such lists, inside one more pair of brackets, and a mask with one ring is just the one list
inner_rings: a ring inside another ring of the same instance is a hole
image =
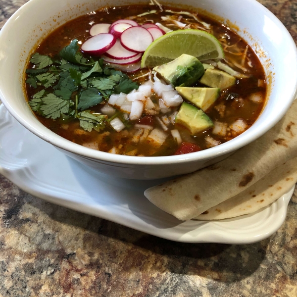
[[[176, 8], [164, 8], [180, 12], [180, 10]], [[69, 45], [73, 39], [78, 39], [80, 45], [88, 40], [90, 38], [89, 30], [93, 24], [112, 23], [118, 19], [136, 16], [150, 11], [151, 9], [155, 8], [150, 5], [101, 8], [96, 12], [78, 17], [57, 28], [44, 39], [36, 49], [36, 52], [55, 57], [58, 55], [59, 51]], [[172, 22], [161, 19], [161, 16], [170, 15], [176, 17], [177, 20], [180, 20], [180, 22], [185, 23], [191, 28], [203, 29], [201, 28], [201, 24], [196, 22], [191, 16], [166, 12], [165, 9], [162, 12], [158, 11], [157, 14], [147, 14], [133, 19], [139, 24], [159, 22], [171, 30], [180, 29]], [[191, 13], [198, 15], [195, 11], [191, 11]], [[128, 118], [125, 122], [126, 127], [120, 132], [116, 132], [108, 123], [106, 123], [105, 128], [100, 131], [93, 129], [91, 132], [88, 132], [82, 129], [79, 121], [71, 116], [60, 116], [56, 119], [51, 119], [42, 116], [38, 111], [35, 111], [35, 115], [47, 128], [71, 142], [105, 152], [126, 155], [164, 156], [174, 155], [176, 153], [188, 153], [198, 151], [199, 149], [210, 148], [235, 138], [255, 122], [263, 108], [266, 95], [264, 70], [256, 54], [239, 35], [225, 25], [218, 23], [216, 20], [203, 15], [198, 15], [198, 18], [210, 24], [210, 33], [220, 41], [225, 52], [224, 63], [246, 76], [237, 79], [236, 84], [232, 87], [221, 90], [220, 97], [205, 111], [215, 124], [219, 122], [219, 125], [222, 125], [226, 130], [223, 135], [222, 133], [213, 133], [212, 128], [194, 136], [190, 135], [190, 132], [184, 126], [174, 124], [172, 119], [171, 121], [170, 119], [168, 120], [170, 115], [179, 109], [179, 106], [170, 108], [169, 111], [162, 113], [158, 104], [159, 97], [153, 92], [150, 99], [154, 103], [155, 108], [150, 111], [144, 110], [139, 120], [129, 121]], [[205, 28], [205, 30], [207, 29]], [[94, 59], [98, 59], [98, 57]], [[34, 65], [29, 63], [28, 69], [34, 69]], [[148, 76], [138, 77], [146, 73], [148, 73], [148, 69], [144, 68], [132, 74], [127, 74], [134, 82], [140, 85], [148, 80]], [[195, 86], [202, 87], [203, 85], [196, 83]], [[32, 99], [33, 95], [42, 89], [43, 86], [33, 88], [29, 84], [26, 84], [28, 100]], [[49, 87], [47, 92], [53, 92], [53, 88]], [[256, 101], [252, 97], [253, 94], [258, 96], [256, 97]], [[257, 101], [258, 98], [262, 98], [262, 100]], [[73, 96], [71, 100], [75, 101]], [[90, 107], [89, 109], [91, 109], [92, 112], [100, 113], [101, 108], [106, 103], [107, 100], [103, 100], [100, 104]], [[121, 114], [122, 119], [123, 117], [127, 118], [128, 115]], [[240, 123], [244, 122], [245, 125], [244, 129], [241, 131], [232, 129], [232, 124], [237, 123], [238, 120], [240, 120]], [[139, 128], [139, 126], [135, 127], [135, 124], [152, 126], [153, 128], [161, 130], [163, 133], [167, 134], [165, 142], [161, 146], [156, 146], [148, 138], [148, 134], [151, 133], [151, 130], [146, 131], [146, 129]], [[164, 131], [164, 129], [166, 131]], [[178, 143], [172, 136], [171, 130], [177, 130], [179, 132], [182, 144], [180, 142]], [[196, 147], [193, 150], [193, 146], [190, 145], [188, 147], [191, 147], [191, 149], [187, 150], [185, 149], [187, 146], [185, 146], [184, 143], [194, 144]]]

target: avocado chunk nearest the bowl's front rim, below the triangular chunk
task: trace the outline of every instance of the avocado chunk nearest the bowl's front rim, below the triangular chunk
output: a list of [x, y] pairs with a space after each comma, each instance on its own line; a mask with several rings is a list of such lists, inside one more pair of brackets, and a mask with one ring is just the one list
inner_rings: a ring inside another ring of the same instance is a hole
[[191, 135], [196, 135], [214, 126], [211, 119], [201, 109], [186, 102], [182, 103], [175, 117], [175, 123], [185, 126]]

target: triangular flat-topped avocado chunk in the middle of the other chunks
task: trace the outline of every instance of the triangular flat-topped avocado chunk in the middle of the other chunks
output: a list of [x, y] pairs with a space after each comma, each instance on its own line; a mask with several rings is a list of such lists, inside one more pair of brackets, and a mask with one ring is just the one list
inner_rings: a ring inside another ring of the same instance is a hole
[[220, 96], [218, 88], [176, 87], [176, 91], [203, 111], [207, 110]]

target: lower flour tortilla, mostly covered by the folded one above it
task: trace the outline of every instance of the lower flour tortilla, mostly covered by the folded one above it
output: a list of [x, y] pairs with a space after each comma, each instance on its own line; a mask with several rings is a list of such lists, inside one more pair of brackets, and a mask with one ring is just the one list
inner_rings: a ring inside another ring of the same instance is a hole
[[297, 182], [297, 157], [275, 168], [238, 195], [213, 206], [195, 219], [221, 220], [255, 212], [286, 194]]

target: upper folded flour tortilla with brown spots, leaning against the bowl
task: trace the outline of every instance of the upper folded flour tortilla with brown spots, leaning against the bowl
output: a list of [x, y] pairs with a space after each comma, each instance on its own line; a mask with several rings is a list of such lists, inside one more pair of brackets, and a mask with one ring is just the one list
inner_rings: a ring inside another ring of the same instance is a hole
[[232, 198], [297, 156], [297, 101], [285, 117], [256, 141], [212, 166], [149, 188], [145, 196], [186, 221]]

